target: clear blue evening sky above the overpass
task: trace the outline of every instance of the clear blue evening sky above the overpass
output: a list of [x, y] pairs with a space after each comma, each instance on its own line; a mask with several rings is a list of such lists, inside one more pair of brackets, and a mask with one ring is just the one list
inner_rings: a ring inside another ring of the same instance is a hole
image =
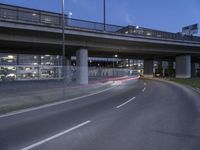
[[[0, 0], [1, 3], [61, 12], [62, 0]], [[103, 0], [65, 0], [72, 18], [102, 22]], [[185, 25], [200, 23], [200, 0], [106, 0], [106, 22], [139, 25], [179, 32]]]

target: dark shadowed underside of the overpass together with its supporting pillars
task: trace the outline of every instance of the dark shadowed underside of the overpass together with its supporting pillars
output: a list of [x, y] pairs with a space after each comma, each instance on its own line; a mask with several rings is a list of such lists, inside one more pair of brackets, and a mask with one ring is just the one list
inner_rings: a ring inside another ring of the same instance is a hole
[[[66, 41], [67, 42], [67, 41]], [[55, 44], [36, 44], [27, 42], [10, 42], [0, 41], [0, 53], [9, 54], [39, 54], [39, 55], [62, 55], [62, 45]], [[152, 48], [153, 49], [153, 48]], [[100, 49], [93, 47], [80, 47], [80, 46], [66, 46], [66, 58], [70, 59], [71, 56], [76, 56], [77, 66], [82, 68], [79, 72], [78, 82], [81, 84], [88, 83], [88, 56], [112, 58], [115, 54], [121, 59], [140, 59], [144, 60], [144, 75], [153, 77], [153, 61], [170, 61], [176, 62], [176, 77], [190, 78], [195, 75], [196, 69], [200, 63], [200, 57], [195, 54], [177, 52], [150, 52], [140, 49], [132, 49], [124, 51], [120, 49]], [[86, 61], [84, 61], [86, 60]], [[197, 66], [197, 67], [196, 67]], [[195, 71], [194, 71], [195, 70]]]

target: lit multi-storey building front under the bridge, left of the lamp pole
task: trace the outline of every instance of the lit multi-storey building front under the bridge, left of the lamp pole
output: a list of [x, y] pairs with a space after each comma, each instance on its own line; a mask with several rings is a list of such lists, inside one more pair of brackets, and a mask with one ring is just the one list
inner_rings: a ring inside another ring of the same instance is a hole
[[0, 53], [0, 81], [62, 78], [61, 56]]

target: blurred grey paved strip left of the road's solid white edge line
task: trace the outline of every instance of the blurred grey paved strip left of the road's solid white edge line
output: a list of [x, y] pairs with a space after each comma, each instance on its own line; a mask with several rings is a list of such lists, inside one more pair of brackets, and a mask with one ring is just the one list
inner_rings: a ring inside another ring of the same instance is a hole
[[0, 85], [0, 114], [63, 101], [115, 86], [114, 81], [128, 77], [91, 81], [88, 85], [61, 81], [5, 83]]

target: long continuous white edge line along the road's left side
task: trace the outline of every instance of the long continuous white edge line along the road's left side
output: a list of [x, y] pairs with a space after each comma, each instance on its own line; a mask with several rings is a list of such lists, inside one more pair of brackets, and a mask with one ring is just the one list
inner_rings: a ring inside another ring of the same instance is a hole
[[3, 115], [0, 115], [0, 118], [10, 117], [10, 116], [14, 116], [14, 115], [30, 112], [30, 111], [35, 111], [35, 110], [39, 110], [39, 109], [43, 109], [43, 108], [48, 108], [48, 107], [52, 107], [52, 106], [56, 106], [56, 105], [60, 105], [60, 104], [64, 104], [64, 103], [68, 103], [68, 102], [72, 102], [72, 101], [76, 101], [78, 99], [90, 97], [90, 96], [93, 96], [93, 95], [97, 95], [97, 94], [109, 91], [109, 90], [111, 90], [111, 89], [113, 89], [113, 88], [115, 88], [116, 86], [119, 85], [118, 81], [115, 81], [114, 83], [116, 83], [116, 85], [114, 85], [113, 87], [98, 91], [96, 93], [91, 93], [91, 94], [83, 95], [83, 96], [80, 96], [80, 97], [75, 97], [75, 98], [72, 98], [72, 99], [67, 99], [67, 100], [54, 102], [54, 103], [51, 103], [51, 104], [46, 104], [46, 105], [42, 105], [42, 106], [38, 106], [38, 107], [34, 107], [34, 108], [27, 108], [27, 109], [24, 109], [24, 110], [19, 110], [19, 111], [3, 114]]

